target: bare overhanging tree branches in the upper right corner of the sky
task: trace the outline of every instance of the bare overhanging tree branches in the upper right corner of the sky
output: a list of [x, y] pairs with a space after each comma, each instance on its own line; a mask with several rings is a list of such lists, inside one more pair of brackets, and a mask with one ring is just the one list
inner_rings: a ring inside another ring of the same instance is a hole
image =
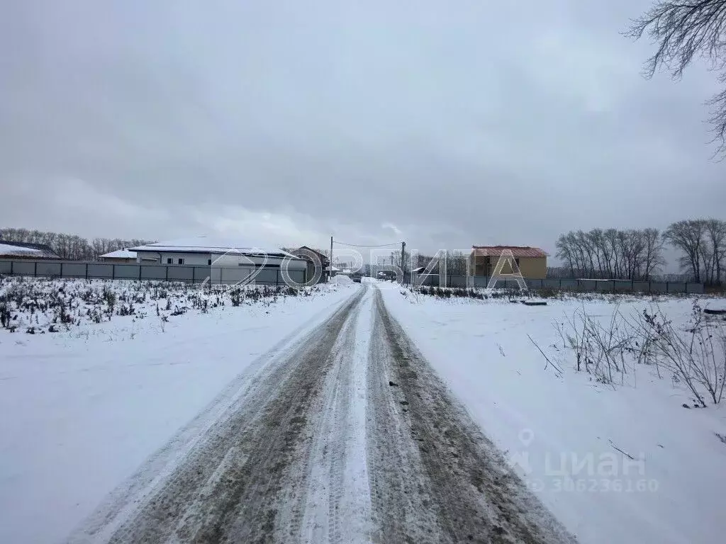
[[[656, 53], [645, 63], [645, 76], [653, 77], [665, 67], [672, 78], [680, 78], [694, 56], [708, 59], [712, 70], [721, 72], [726, 83], [726, 0], [658, 0], [634, 21], [626, 35], [639, 39], [644, 34], [658, 44]], [[717, 154], [726, 151], [726, 90], [711, 97], [714, 141]]]

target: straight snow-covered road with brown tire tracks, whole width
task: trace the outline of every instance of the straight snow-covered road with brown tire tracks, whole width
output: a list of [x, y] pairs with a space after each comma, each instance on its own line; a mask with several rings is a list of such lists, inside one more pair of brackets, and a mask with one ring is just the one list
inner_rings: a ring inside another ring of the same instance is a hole
[[569, 542], [364, 284], [250, 366], [70, 536]]

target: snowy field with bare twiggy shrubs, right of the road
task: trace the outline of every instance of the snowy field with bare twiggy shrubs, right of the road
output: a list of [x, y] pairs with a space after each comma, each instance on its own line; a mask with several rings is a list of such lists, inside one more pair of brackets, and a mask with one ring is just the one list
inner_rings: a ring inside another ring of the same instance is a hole
[[[715, 406], [704, 395], [707, 407], [693, 408], [683, 381], [652, 363], [626, 362], [612, 380], [584, 363], [578, 372], [555, 326], [584, 312], [607, 330], [613, 313], [634, 321], [657, 305], [682, 330], [693, 299], [592, 298], [528, 307], [384, 290], [391, 314], [580, 542], [721, 541], [726, 399]], [[723, 299], [700, 303], [726, 308]]]

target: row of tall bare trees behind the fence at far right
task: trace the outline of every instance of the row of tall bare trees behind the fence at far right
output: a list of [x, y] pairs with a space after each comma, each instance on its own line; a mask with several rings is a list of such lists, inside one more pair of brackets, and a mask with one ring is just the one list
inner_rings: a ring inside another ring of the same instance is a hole
[[[571, 278], [649, 280], [666, 264], [668, 244], [681, 252], [680, 279], [722, 285], [726, 278], [726, 221], [689, 219], [657, 228], [571, 231], [557, 241], [560, 273]], [[557, 273], [554, 270], [553, 274]]]

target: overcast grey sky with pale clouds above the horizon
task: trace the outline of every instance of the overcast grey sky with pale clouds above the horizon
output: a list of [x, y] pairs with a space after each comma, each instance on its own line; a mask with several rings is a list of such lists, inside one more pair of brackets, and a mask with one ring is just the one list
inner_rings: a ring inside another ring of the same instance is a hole
[[0, 4], [0, 226], [466, 249], [724, 218], [648, 0]]

